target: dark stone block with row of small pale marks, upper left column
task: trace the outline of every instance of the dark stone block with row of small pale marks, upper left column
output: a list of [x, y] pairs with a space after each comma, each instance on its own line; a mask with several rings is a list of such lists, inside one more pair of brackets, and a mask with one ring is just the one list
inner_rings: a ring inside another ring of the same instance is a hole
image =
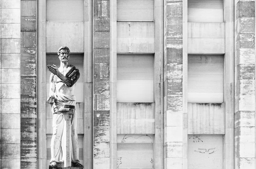
[[35, 32], [37, 29], [36, 19], [36, 17], [20, 17], [20, 31]]

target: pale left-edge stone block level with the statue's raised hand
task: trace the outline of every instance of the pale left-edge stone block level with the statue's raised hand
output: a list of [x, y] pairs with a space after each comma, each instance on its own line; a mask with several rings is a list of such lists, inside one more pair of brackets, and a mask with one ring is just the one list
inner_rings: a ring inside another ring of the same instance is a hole
[[1, 69], [1, 82], [20, 83], [20, 69]]

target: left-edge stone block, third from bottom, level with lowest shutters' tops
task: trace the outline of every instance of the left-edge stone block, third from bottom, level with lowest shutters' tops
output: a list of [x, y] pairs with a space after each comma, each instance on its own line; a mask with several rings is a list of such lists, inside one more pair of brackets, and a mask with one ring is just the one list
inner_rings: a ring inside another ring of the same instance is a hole
[[2, 144], [20, 144], [20, 129], [2, 129]]

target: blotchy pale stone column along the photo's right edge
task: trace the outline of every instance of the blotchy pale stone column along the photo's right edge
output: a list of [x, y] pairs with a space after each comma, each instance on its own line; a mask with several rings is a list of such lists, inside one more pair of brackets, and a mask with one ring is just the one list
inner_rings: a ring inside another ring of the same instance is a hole
[[254, 0], [235, 1], [235, 169], [255, 169]]

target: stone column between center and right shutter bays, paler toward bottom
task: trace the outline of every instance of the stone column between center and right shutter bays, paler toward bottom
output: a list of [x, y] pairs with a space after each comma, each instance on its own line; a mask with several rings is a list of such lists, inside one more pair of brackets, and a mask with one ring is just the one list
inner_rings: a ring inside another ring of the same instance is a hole
[[164, 4], [164, 169], [183, 167], [183, 1]]

